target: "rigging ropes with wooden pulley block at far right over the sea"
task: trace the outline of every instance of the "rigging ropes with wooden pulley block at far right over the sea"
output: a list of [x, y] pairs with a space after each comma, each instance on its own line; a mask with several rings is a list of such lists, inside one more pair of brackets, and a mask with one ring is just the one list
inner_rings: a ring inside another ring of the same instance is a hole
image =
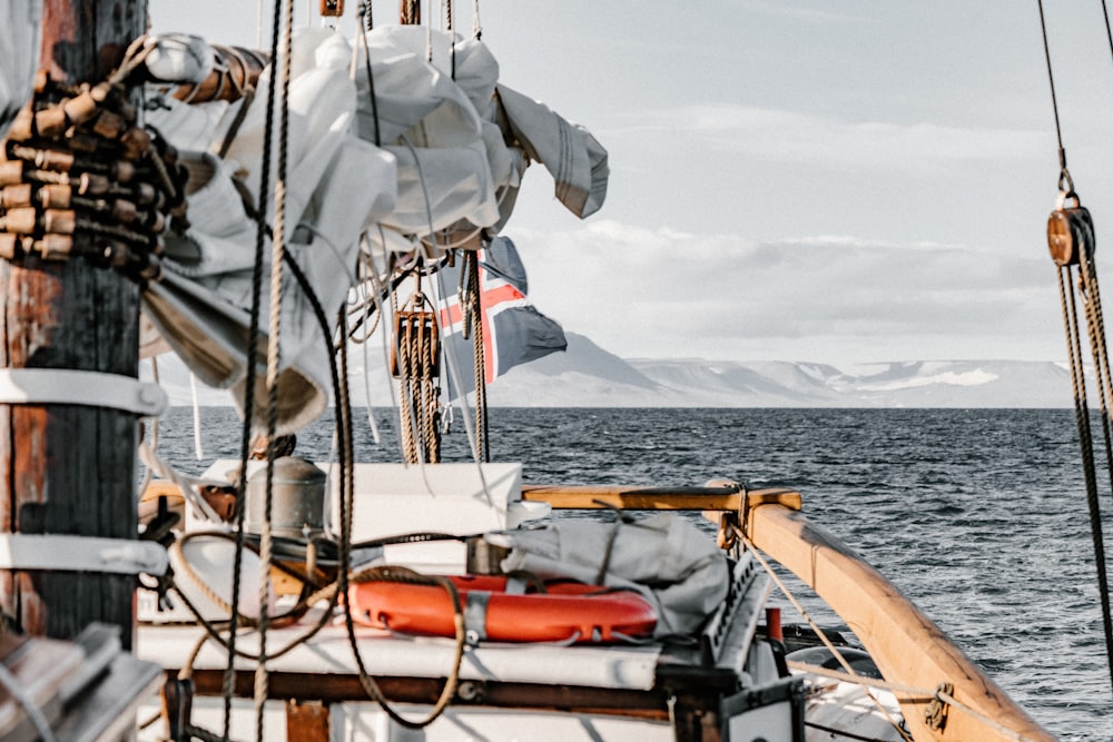
[[[1055, 76], [1052, 72], [1051, 46], [1047, 41], [1047, 24], [1043, 0], [1040, 7], [1040, 26], [1043, 33], [1044, 58], [1047, 62], [1047, 80], [1051, 87], [1052, 110], [1055, 118], [1055, 136], [1058, 142], [1058, 202], [1047, 220], [1047, 245], [1057, 267], [1060, 301], [1063, 308], [1063, 324], [1066, 330], [1067, 355], [1071, 366], [1071, 386], [1074, 394], [1074, 414], [1078, 428], [1083, 476], [1086, 485], [1086, 505], [1090, 511], [1090, 531], [1094, 545], [1094, 563], [1097, 571], [1097, 590], [1101, 595], [1102, 624], [1105, 634], [1105, 655], [1113, 682], [1113, 615], [1110, 610], [1110, 586], [1106, 570], [1105, 543], [1102, 532], [1101, 505], [1097, 497], [1097, 474], [1094, 463], [1094, 441], [1091, 431], [1090, 409], [1086, 404], [1085, 374], [1082, 356], [1081, 327], [1075, 300], [1075, 281], [1071, 266], [1078, 266], [1077, 291], [1086, 318], [1086, 332], [1094, 363], [1094, 380], [1101, 409], [1101, 427], [1105, 446], [1106, 472], [1113, 473], [1113, 433], [1111, 433], [1107, 394], [1113, 393], [1109, 353], [1105, 344], [1105, 323], [1102, 318], [1101, 291], [1097, 284], [1097, 266], [1094, 263], [1094, 225], [1090, 211], [1074, 191], [1074, 182], [1066, 168], [1066, 149], [1060, 125], [1058, 103], [1055, 97]], [[1104, 10], [1105, 3], [1102, 2]], [[1109, 13], [1105, 13], [1109, 30]], [[1110, 36], [1113, 52], [1113, 34]], [[1073, 199], [1074, 206], [1067, 202]], [[1111, 483], [1113, 484], [1113, 483]]]

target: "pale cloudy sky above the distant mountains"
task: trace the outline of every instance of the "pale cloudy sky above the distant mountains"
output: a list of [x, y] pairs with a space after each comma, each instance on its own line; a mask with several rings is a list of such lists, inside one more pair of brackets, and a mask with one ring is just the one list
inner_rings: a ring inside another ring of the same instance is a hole
[[[1082, 4], [1045, 12], [1101, 268], [1113, 55], [1101, 3]], [[255, 44], [255, 2], [194, 6], [150, 0], [155, 30]], [[534, 165], [503, 230], [565, 330], [626, 358], [1065, 359], [1036, 0], [479, 8], [501, 81], [609, 152], [597, 215], [565, 211]], [[373, 9], [383, 24], [396, 3]]]

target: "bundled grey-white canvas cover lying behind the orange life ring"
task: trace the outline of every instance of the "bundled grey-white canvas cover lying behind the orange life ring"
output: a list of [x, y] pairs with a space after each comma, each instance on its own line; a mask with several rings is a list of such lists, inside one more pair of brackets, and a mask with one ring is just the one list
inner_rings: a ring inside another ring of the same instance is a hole
[[637, 590], [657, 607], [658, 636], [698, 631], [727, 596], [727, 557], [672, 513], [633, 522], [560, 521], [485, 538], [512, 548], [505, 572]]

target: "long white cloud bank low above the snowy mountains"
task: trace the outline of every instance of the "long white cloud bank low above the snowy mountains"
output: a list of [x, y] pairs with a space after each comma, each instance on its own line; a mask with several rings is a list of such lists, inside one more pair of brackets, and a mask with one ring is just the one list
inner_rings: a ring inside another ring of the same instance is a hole
[[628, 357], [1056, 359], [1065, 347], [1054, 271], [1037, 258], [607, 220], [509, 235], [538, 308]]

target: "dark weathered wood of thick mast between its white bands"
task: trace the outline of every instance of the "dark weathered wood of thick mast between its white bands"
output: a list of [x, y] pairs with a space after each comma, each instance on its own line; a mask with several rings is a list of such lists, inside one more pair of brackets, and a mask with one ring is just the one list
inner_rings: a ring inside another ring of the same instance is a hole
[[[145, 0], [43, 0], [40, 66], [102, 80], [147, 23]], [[0, 260], [0, 366], [138, 374], [139, 289], [86, 260]], [[83, 405], [0, 404], [0, 531], [136, 538], [136, 417]], [[71, 639], [90, 622], [132, 644], [135, 577], [0, 571], [19, 629]]]

